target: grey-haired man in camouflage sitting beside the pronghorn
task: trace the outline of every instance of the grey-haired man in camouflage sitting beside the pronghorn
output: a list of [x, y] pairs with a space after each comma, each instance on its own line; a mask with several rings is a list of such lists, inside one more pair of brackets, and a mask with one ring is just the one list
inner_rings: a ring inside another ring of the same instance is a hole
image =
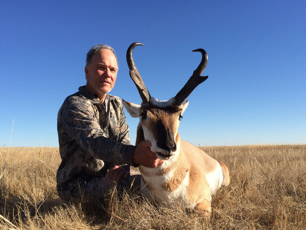
[[83, 195], [101, 198], [101, 188], [109, 182], [129, 189], [135, 182], [129, 165], [157, 167], [163, 163], [151, 152], [149, 141], [130, 145], [122, 102], [107, 94], [114, 87], [117, 73], [114, 49], [107, 45], [92, 47], [86, 58], [86, 86], [67, 97], [58, 111], [62, 162], [56, 178], [62, 199]]

